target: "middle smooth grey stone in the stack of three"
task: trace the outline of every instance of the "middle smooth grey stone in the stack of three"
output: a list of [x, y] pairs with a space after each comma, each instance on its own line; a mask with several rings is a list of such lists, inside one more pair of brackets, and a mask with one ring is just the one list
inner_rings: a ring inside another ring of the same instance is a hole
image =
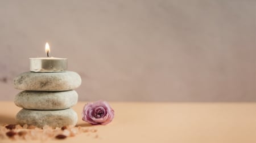
[[76, 105], [78, 94], [75, 90], [65, 92], [23, 91], [15, 96], [14, 103], [24, 109], [61, 110]]

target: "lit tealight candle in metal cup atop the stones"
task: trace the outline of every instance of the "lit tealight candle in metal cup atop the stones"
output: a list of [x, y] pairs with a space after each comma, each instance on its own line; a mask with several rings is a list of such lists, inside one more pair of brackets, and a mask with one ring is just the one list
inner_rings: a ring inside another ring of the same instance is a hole
[[65, 72], [68, 59], [49, 57], [49, 52], [49, 44], [46, 43], [46, 58], [30, 58], [31, 72]]

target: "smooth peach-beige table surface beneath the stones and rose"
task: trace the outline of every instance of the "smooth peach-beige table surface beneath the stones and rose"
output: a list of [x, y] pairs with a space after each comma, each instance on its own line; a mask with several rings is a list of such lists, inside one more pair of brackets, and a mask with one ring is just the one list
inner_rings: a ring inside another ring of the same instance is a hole
[[[97, 129], [98, 138], [82, 133], [47, 142], [256, 142], [256, 103], [110, 102], [113, 122], [96, 126], [81, 120], [85, 103], [73, 107], [79, 115], [77, 124]], [[0, 105], [0, 124], [15, 123], [20, 108], [13, 102]]]

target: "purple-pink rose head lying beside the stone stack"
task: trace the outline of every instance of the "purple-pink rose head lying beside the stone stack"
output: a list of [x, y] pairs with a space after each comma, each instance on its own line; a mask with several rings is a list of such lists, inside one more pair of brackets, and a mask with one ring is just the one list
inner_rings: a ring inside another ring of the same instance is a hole
[[112, 122], [114, 110], [106, 101], [87, 103], [82, 110], [82, 120], [90, 124], [106, 125]]

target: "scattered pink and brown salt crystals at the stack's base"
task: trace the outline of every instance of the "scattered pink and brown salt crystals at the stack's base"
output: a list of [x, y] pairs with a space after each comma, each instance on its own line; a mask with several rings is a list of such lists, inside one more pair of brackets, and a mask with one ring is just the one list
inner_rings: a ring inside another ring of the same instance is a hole
[[20, 126], [15, 124], [0, 125], [0, 140], [11, 138], [12, 140], [63, 140], [67, 137], [74, 137], [80, 133], [86, 133], [85, 136], [94, 134], [91, 137], [98, 138], [97, 129], [90, 127], [63, 126], [61, 128], [52, 128], [45, 125], [38, 128], [34, 125]]

